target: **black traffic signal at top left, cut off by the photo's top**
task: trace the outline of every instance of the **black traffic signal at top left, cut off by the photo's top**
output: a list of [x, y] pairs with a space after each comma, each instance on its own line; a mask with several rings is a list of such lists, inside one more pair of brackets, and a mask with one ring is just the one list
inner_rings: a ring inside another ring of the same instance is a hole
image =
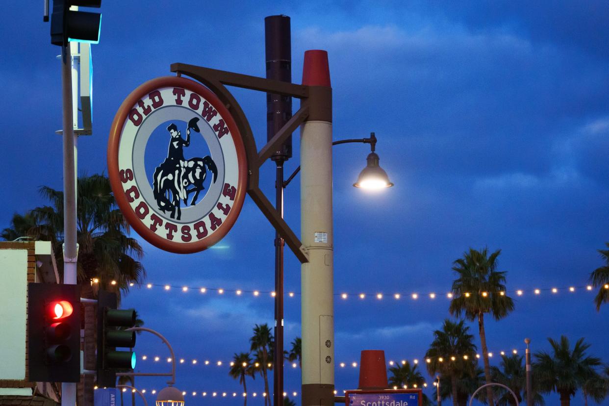
[[72, 40], [98, 43], [102, 15], [70, 10], [72, 5], [98, 8], [102, 0], [53, 0], [51, 44], [67, 46]]

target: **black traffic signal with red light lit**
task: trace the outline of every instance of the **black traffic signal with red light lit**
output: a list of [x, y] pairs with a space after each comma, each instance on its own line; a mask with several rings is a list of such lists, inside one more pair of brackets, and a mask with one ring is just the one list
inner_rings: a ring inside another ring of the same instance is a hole
[[80, 285], [27, 285], [31, 382], [80, 381]]

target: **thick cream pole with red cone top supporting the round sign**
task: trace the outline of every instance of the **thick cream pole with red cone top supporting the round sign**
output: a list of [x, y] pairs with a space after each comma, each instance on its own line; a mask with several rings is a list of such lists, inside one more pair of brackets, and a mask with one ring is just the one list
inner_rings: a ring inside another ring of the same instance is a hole
[[332, 89], [326, 51], [306, 51], [309, 116], [300, 134], [302, 405], [334, 404]]

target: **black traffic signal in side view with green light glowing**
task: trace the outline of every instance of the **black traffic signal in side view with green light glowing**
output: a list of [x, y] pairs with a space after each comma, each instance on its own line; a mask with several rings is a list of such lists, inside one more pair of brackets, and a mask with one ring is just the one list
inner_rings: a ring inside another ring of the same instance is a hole
[[117, 310], [116, 293], [99, 290], [97, 295], [97, 386], [116, 387], [116, 373], [135, 368], [135, 352], [116, 347], [135, 347], [135, 310]]

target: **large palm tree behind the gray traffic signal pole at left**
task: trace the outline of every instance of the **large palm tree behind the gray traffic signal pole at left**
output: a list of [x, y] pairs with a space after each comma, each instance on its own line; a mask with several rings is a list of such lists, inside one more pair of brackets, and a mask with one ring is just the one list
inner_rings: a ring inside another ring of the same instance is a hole
[[[131, 283], [140, 285], [146, 271], [139, 259], [143, 250], [139, 243], [128, 237], [127, 221], [116, 207], [110, 182], [105, 175], [92, 175], [78, 179], [77, 195], [77, 242], [79, 256], [77, 280], [82, 284], [81, 296], [94, 298], [96, 291], [103, 288], [116, 292], [128, 292]], [[27, 212], [24, 216], [13, 216], [13, 229], [4, 229], [2, 237], [16, 234], [27, 235], [38, 240], [49, 240], [57, 253], [57, 268], [63, 275], [63, 192], [51, 187], [40, 188], [43, 197], [51, 205]], [[26, 230], [26, 228], [29, 229]], [[14, 234], [11, 234], [13, 233]], [[92, 285], [97, 278], [99, 284]], [[112, 283], [114, 281], [114, 284]], [[95, 369], [95, 312], [92, 306], [85, 306], [85, 368]], [[83, 376], [79, 384], [79, 404], [93, 405], [93, 379]]]

